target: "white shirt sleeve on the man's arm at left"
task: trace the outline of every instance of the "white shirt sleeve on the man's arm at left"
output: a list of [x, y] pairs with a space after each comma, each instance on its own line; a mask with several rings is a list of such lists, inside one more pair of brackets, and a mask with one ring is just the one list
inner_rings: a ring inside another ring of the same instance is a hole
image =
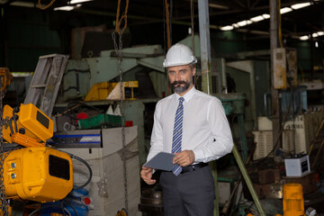
[[163, 150], [163, 127], [161, 122], [161, 104], [157, 103], [156, 110], [154, 112], [154, 124], [150, 140], [150, 148], [148, 152], [148, 158], [154, 157], [157, 153]]

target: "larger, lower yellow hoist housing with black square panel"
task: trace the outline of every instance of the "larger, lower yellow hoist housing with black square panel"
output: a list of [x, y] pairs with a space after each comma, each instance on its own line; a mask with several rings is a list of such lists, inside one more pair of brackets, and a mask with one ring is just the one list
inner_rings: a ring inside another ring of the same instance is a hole
[[72, 160], [47, 147], [21, 148], [4, 159], [4, 187], [9, 199], [54, 202], [73, 187]]

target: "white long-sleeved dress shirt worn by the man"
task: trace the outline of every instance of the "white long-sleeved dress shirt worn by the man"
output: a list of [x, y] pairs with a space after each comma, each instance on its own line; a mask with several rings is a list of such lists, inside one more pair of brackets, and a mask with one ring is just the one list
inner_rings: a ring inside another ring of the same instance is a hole
[[[157, 102], [148, 160], [158, 152], [171, 153], [179, 94]], [[182, 150], [193, 150], [194, 162], [207, 163], [228, 154], [233, 139], [220, 100], [194, 88], [184, 94]]]

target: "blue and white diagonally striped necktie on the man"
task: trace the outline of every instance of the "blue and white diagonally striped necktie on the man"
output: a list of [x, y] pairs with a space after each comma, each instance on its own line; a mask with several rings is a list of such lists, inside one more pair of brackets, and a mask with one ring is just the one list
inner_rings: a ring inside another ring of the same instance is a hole
[[[172, 139], [172, 153], [178, 153], [181, 151], [182, 144], [182, 129], [183, 129], [183, 118], [184, 118], [184, 98], [179, 98], [179, 105], [175, 112], [175, 127]], [[172, 172], [175, 175], [179, 175], [182, 171], [181, 166], [175, 166]]]

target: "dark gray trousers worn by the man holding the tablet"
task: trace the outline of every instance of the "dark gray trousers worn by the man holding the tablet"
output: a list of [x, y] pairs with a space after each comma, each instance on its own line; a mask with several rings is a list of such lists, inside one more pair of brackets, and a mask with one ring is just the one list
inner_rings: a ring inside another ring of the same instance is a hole
[[178, 176], [162, 172], [160, 184], [165, 216], [212, 216], [215, 187], [210, 166]]

